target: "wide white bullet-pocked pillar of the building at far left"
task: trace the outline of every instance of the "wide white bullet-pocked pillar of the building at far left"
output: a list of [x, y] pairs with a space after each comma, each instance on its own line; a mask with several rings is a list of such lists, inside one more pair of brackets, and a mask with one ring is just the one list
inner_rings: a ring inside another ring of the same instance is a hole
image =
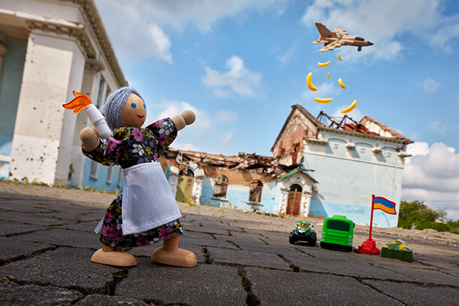
[[62, 104], [81, 89], [84, 61], [74, 39], [30, 33], [11, 150], [13, 179], [67, 184], [77, 115]]

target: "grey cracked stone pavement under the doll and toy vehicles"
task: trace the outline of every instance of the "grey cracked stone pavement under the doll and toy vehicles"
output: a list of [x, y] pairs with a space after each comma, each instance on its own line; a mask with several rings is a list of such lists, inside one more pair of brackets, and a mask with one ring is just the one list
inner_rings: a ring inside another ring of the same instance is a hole
[[[113, 195], [0, 182], [0, 305], [458, 305], [459, 235], [373, 229], [381, 247], [404, 239], [408, 263], [289, 244], [297, 217], [180, 204], [196, 268], [149, 258], [137, 266], [91, 263], [93, 229]], [[323, 218], [310, 217], [317, 237]], [[353, 246], [368, 238], [356, 226]]]

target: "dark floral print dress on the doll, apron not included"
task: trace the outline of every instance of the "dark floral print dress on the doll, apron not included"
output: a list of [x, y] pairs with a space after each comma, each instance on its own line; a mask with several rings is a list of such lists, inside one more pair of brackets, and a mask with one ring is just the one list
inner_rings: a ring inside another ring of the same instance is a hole
[[[171, 118], [158, 120], [147, 128], [123, 127], [113, 131], [113, 137], [101, 140], [92, 152], [83, 153], [104, 166], [120, 165], [123, 169], [137, 164], [157, 162], [158, 158], [177, 137], [177, 128]], [[123, 235], [121, 217], [123, 191], [108, 206], [101, 229], [101, 242], [117, 249], [147, 246], [183, 234], [180, 220], [161, 225], [147, 232]]]

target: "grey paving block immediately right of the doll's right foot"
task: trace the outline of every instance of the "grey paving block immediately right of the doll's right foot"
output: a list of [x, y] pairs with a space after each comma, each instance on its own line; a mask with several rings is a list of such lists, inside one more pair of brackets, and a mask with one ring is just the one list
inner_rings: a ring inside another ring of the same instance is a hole
[[274, 254], [216, 248], [208, 248], [208, 254], [210, 263], [214, 264], [229, 266], [261, 266], [263, 268], [291, 270], [288, 263]]

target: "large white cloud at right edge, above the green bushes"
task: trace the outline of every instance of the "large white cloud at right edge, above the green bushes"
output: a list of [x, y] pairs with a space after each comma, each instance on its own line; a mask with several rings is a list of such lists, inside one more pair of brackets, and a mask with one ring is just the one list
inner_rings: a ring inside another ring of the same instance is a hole
[[446, 208], [448, 217], [459, 218], [459, 154], [453, 147], [414, 142], [412, 157], [403, 171], [402, 200], [424, 200], [434, 209]]

